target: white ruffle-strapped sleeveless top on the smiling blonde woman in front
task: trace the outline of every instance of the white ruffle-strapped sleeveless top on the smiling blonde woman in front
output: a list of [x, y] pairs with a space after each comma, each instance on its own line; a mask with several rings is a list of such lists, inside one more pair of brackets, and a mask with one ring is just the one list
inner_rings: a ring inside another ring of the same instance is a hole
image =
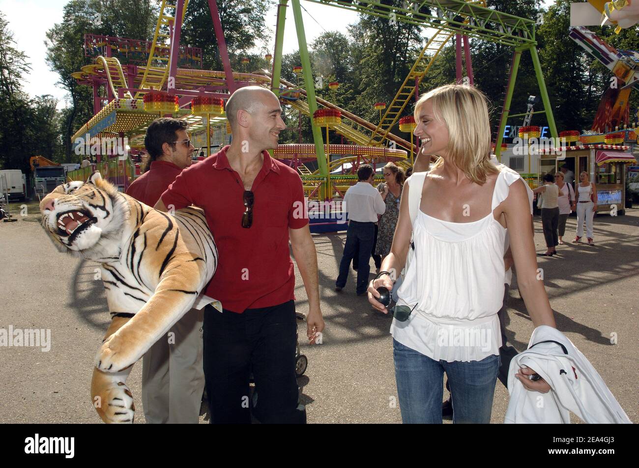
[[442, 221], [419, 210], [415, 258], [397, 291], [398, 305], [417, 306], [408, 321], [393, 319], [390, 333], [398, 342], [448, 362], [499, 354], [506, 230], [493, 210], [518, 179], [517, 172], [500, 170], [491, 212], [475, 222]]

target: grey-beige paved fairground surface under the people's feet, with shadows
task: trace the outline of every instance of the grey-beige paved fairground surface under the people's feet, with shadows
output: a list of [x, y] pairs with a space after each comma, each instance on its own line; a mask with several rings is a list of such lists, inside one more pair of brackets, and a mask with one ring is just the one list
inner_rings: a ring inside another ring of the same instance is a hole
[[[30, 210], [29, 213], [33, 213]], [[104, 289], [95, 266], [59, 253], [46, 238], [37, 215], [0, 222], [0, 328], [51, 331], [51, 348], [0, 347], [0, 423], [98, 423], [89, 382], [93, 356], [107, 328]], [[539, 260], [558, 328], [590, 359], [629, 418], [639, 421], [636, 386], [639, 309], [639, 210], [626, 216], [597, 216], [597, 246], [560, 246], [560, 257]], [[575, 219], [567, 223], [574, 236]], [[535, 221], [542, 252], [541, 223]], [[304, 385], [309, 423], [399, 423], [389, 335], [390, 317], [355, 296], [354, 277], [334, 292], [344, 234], [314, 236], [320, 294], [327, 323], [322, 345], [302, 345], [309, 367]], [[513, 283], [515, 286], [516, 283]], [[307, 312], [297, 276], [297, 307]], [[527, 347], [532, 322], [516, 287], [511, 289], [509, 340]], [[300, 336], [305, 327], [300, 325]], [[617, 334], [617, 344], [610, 342]], [[141, 363], [127, 382], [141, 411]], [[497, 383], [493, 423], [508, 402]]]

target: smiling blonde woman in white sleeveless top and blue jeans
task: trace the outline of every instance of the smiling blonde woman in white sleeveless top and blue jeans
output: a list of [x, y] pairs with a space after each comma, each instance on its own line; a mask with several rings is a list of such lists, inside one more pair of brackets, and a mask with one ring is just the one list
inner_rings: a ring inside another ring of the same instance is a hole
[[[391, 326], [397, 393], [404, 423], [441, 423], [443, 372], [452, 394], [455, 423], [488, 423], [499, 366], [497, 312], [504, 295], [504, 238], [508, 226], [521, 294], [535, 326], [555, 327], [538, 278], [530, 230], [527, 188], [516, 172], [490, 162], [485, 96], [472, 86], [447, 85], [415, 105], [420, 158], [439, 156], [419, 179], [404, 183], [397, 229], [378, 278], [369, 285], [392, 289], [394, 272], [406, 264], [411, 236], [414, 257], [397, 291]], [[410, 184], [424, 180], [419, 211], [411, 221]], [[411, 312], [412, 311], [412, 312]], [[410, 312], [406, 321], [401, 313]], [[520, 369], [525, 388], [548, 391], [534, 370]]]

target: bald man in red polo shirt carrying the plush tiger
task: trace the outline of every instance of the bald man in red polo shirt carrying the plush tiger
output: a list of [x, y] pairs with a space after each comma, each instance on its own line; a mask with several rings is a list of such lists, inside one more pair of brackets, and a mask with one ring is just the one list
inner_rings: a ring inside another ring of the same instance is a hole
[[219, 264], [205, 294], [204, 374], [212, 423], [250, 423], [249, 379], [261, 423], [305, 423], [295, 375], [297, 324], [293, 255], [309, 301], [307, 337], [324, 328], [315, 245], [297, 172], [271, 158], [286, 128], [277, 96], [262, 87], [235, 91], [226, 104], [230, 146], [184, 170], [155, 206], [204, 209]]

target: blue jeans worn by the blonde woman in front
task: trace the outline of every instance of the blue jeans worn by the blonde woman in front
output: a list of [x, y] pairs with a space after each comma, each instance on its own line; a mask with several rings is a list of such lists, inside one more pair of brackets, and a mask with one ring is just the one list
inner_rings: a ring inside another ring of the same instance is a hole
[[443, 373], [452, 395], [453, 422], [488, 424], [499, 356], [481, 361], [435, 361], [393, 340], [395, 380], [404, 424], [441, 424]]

